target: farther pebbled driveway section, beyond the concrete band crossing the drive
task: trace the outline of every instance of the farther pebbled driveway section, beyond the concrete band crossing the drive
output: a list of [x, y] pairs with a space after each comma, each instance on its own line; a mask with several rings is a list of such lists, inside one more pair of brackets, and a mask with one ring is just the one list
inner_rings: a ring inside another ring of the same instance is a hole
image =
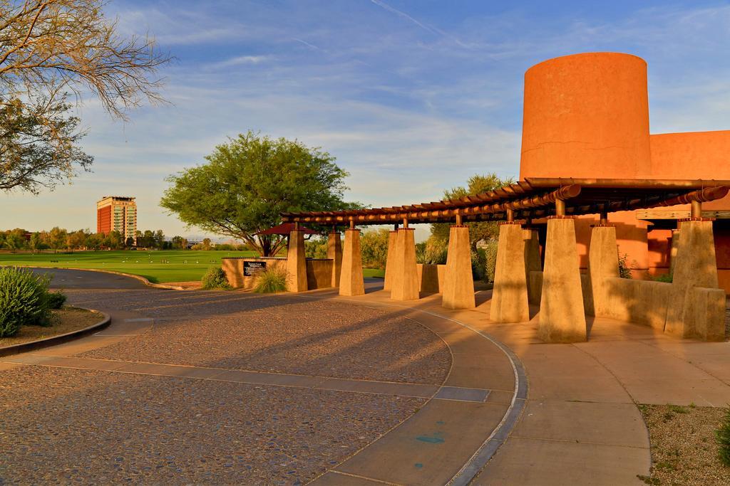
[[74, 302], [157, 318], [146, 334], [80, 356], [441, 384], [447, 346], [392, 312], [232, 292], [69, 291]]

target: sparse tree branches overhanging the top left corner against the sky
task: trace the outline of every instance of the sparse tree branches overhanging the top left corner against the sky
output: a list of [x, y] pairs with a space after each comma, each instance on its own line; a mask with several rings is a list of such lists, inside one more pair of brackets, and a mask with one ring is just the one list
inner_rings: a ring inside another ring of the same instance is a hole
[[69, 93], [96, 95], [121, 119], [145, 100], [162, 101], [155, 71], [169, 56], [152, 39], [120, 36], [105, 3], [0, 0], [1, 190], [53, 188], [91, 165]]

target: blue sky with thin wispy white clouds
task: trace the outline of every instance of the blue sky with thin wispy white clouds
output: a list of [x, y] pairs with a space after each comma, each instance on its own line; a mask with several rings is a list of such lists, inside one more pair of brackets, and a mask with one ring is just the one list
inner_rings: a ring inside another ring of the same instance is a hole
[[653, 133], [730, 128], [729, 2], [112, 0], [107, 12], [176, 56], [172, 104], [123, 123], [86, 98], [93, 173], [1, 196], [0, 228], [95, 230], [96, 200], [115, 194], [137, 197], [142, 229], [201, 235], [159, 208], [164, 179], [248, 129], [323, 147], [351, 174], [347, 197], [374, 206], [516, 176], [524, 71], [575, 52], [647, 60]]

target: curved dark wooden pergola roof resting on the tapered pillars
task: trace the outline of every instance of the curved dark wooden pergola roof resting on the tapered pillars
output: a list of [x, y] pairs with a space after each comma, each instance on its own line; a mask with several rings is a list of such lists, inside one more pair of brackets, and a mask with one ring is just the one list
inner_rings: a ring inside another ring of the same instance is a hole
[[431, 203], [345, 211], [282, 213], [285, 222], [357, 225], [448, 222], [460, 215], [464, 222], [503, 221], [507, 210], [515, 219], [552, 216], [556, 200], [565, 213], [612, 213], [634, 209], [707, 202], [725, 197], [730, 181], [690, 179], [553, 179], [531, 177], [493, 191]]

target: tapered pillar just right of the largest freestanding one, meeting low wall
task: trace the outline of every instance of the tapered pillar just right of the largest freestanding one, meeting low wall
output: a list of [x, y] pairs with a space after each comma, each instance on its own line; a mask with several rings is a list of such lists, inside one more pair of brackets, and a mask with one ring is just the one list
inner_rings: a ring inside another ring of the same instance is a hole
[[588, 275], [593, 294], [593, 314], [597, 317], [611, 315], [609, 286], [607, 278], [618, 278], [618, 246], [616, 228], [596, 226], [591, 232], [591, 246], [588, 249]]

